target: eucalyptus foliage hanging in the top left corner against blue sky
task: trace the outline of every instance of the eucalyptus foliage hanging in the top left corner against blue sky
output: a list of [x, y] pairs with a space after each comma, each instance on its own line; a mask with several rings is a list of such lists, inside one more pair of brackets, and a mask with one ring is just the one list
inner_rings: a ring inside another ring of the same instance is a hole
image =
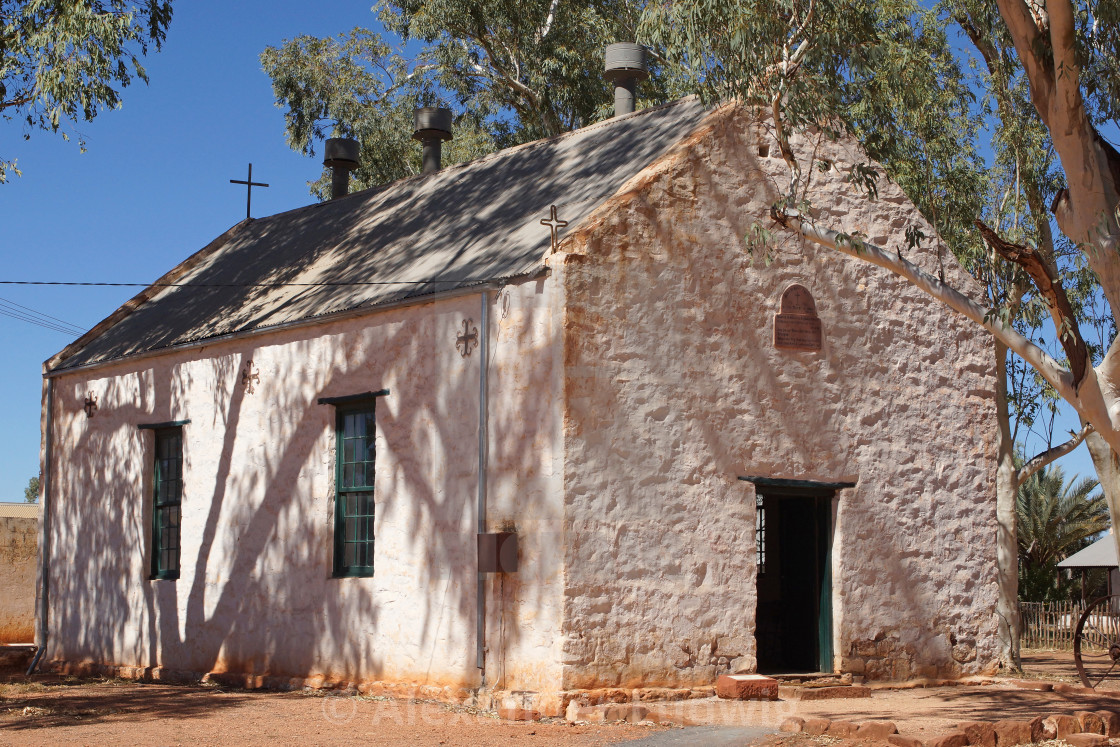
[[[133, 77], [148, 82], [139, 58], [170, 22], [170, 0], [0, 0], [0, 116], [28, 139], [120, 106]], [[8, 171], [19, 174], [15, 160], [0, 158], [0, 184]]]

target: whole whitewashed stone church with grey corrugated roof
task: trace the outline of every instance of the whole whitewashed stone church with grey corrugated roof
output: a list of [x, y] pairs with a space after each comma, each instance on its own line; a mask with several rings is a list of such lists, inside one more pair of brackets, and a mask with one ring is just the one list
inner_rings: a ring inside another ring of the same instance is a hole
[[[933, 235], [795, 146], [830, 226]], [[233, 226], [46, 364], [44, 663], [545, 713], [993, 670], [990, 342], [752, 258], [785, 178], [685, 99]]]

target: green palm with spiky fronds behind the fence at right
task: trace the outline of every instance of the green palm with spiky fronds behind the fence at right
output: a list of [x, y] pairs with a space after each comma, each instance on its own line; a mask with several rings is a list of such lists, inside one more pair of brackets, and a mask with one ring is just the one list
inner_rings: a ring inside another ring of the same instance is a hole
[[1052, 601], [1070, 597], [1057, 563], [1109, 527], [1104, 496], [1092, 495], [1096, 480], [1065, 482], [1061, 467], [1040, 469], [1019, 485], [1019, 598]]

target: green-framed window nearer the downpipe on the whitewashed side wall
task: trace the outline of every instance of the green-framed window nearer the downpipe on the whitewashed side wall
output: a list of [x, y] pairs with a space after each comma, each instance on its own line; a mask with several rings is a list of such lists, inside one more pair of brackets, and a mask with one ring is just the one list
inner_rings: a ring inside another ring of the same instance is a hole
[[336, 410], [335, 576], [373, 576], [374, 401]]

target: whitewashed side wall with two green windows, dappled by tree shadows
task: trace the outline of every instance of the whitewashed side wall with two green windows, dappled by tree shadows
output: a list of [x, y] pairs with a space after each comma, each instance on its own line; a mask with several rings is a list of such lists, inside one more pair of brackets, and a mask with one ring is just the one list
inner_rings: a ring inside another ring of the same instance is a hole
[[[59, 376], [48, 660], [477, 685], [479, 356], [456, 336], [479, 298]], [[489, 655], [511, 687], [556, 690], [551, 298], [531, 281], [494, 304], [489, 516], [517, 529], [522, 554], [491, 605]], [[374, 576], [336, 579], [335, 409], [317, 400], [381, 389]], [[190, 421], [181, 576], [149, 580], [153, 436], [138, 426], [176, 420]]]

